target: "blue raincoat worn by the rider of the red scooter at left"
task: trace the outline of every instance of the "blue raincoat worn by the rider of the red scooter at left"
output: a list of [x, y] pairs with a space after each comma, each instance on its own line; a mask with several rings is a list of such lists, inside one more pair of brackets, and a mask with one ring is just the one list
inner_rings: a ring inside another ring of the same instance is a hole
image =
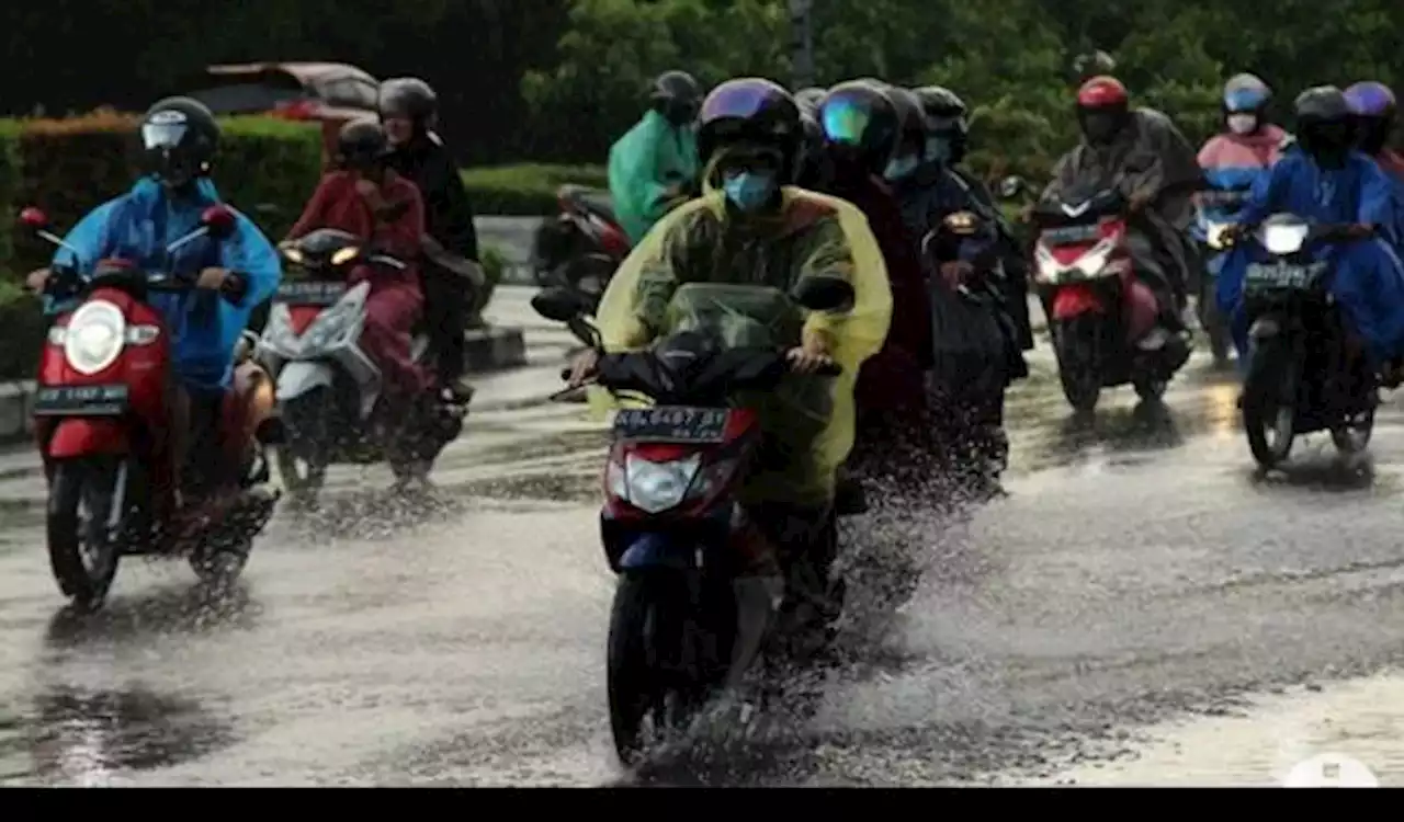
[[[197, 275], [206, 267], [237, 272], [249, 283], [240, 304], [215, 292], [152, 293], [150, 304], [166, 318], [174, 339], [173, 368], [191, 391], [211, 393], [229, 387], [234, 348], [249, 327], [253, 307], [278, 289], [282, 265], [278, 251], [254, 223], [234, 212], [233, 236], [216, 241], [202, 237], [178, 248], [167, 260], [166, 245], [199, 227], [201, 213], [219, 203], [215, 185], [202, 178], [190, 199], [171, 199], [150, 178], [83, 217], [63, 238], [73, 250], [59, 248], [53, 265], [90, 272], [101, 260], [128, 260], [152, 272]], [[46, 304], [49, 313], [66, 306]]]

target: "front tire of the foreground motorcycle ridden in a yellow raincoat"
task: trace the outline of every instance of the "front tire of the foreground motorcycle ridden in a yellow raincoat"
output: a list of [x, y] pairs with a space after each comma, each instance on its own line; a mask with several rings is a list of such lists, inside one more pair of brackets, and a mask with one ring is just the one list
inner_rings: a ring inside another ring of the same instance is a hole
[[689, 596], [674, 572], [625, 572], [609, 614], [605, 689], [615, 752], [636, 764], [692, 715], [696, 683], [682, 682]]

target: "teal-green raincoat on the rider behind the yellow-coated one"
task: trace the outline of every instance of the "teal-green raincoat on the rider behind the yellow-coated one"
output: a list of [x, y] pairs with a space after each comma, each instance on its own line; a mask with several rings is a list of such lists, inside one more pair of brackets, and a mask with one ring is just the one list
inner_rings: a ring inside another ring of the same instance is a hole
[[674, 205], [668, 188], [689, 187], [701, 171], [696, 135], [649, 111], [609, 147], [609, 196], [619, 227], [637, 245]]

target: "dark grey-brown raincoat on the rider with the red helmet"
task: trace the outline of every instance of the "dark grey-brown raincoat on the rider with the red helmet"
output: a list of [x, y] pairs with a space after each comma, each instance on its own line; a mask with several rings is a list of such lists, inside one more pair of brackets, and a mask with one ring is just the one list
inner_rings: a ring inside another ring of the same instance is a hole
[[[1192, 267], [1185, 230], [1193, 219], [1192, 194], [1202, 181], [1198, 157], [1185, 135], [1164, 114], [1139, 108], [1111, 144], [1084, 140], [1064, 154], [1042, 198], [1052, 199], [1074, 187], [1105, 191], [1115, 185], [1127, 198], [1136, 192], [1153, 194], [1144, 213], [1133, 220], [1133, 229], [1147, 230], [1167, 255], [1177, 269], [1167, 272], [1170, 285], [1181, 295]], [[1137, 271], [1146, 272], [1144, 267]]]

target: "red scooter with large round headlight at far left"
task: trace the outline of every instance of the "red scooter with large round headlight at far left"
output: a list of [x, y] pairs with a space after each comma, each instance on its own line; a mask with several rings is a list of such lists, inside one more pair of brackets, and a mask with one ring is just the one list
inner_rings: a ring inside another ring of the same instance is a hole
[[[42, 210], [27, 208], [20, 220], [73, 251], [49, 231]], [[212, 206], [198, 229], [166, 248], [167, 258], [233, 229], [233, 212]], [[264, 452], [282, 432], [272, 382], [249, 359], [247, 339], [222, 412], [223, 461], [237, 474], [213, 478], [236, 485], [239, 498], [216, 512], [180, 491], [188, 445], [171, 432], [187, 426], [185, 403], [173, 380], [173, 330], [147, 296], [188, 295], [194, 285], [192, 276], [140, 271], [118, 260], [98, 262], [86, 279], [56, 265], [45, 282], [46, 296], [74, 303], [49, 328], [34, 418], [49, 487], [49, 562], [59, 589], [80, 609], [104, 602], [126, 555], [185, 557], [202, 581], [227, 584], [272, 518], [278, 494], [264, 487]], [[246, 288], [233, 276], [223, 296], [237, 300]]]

